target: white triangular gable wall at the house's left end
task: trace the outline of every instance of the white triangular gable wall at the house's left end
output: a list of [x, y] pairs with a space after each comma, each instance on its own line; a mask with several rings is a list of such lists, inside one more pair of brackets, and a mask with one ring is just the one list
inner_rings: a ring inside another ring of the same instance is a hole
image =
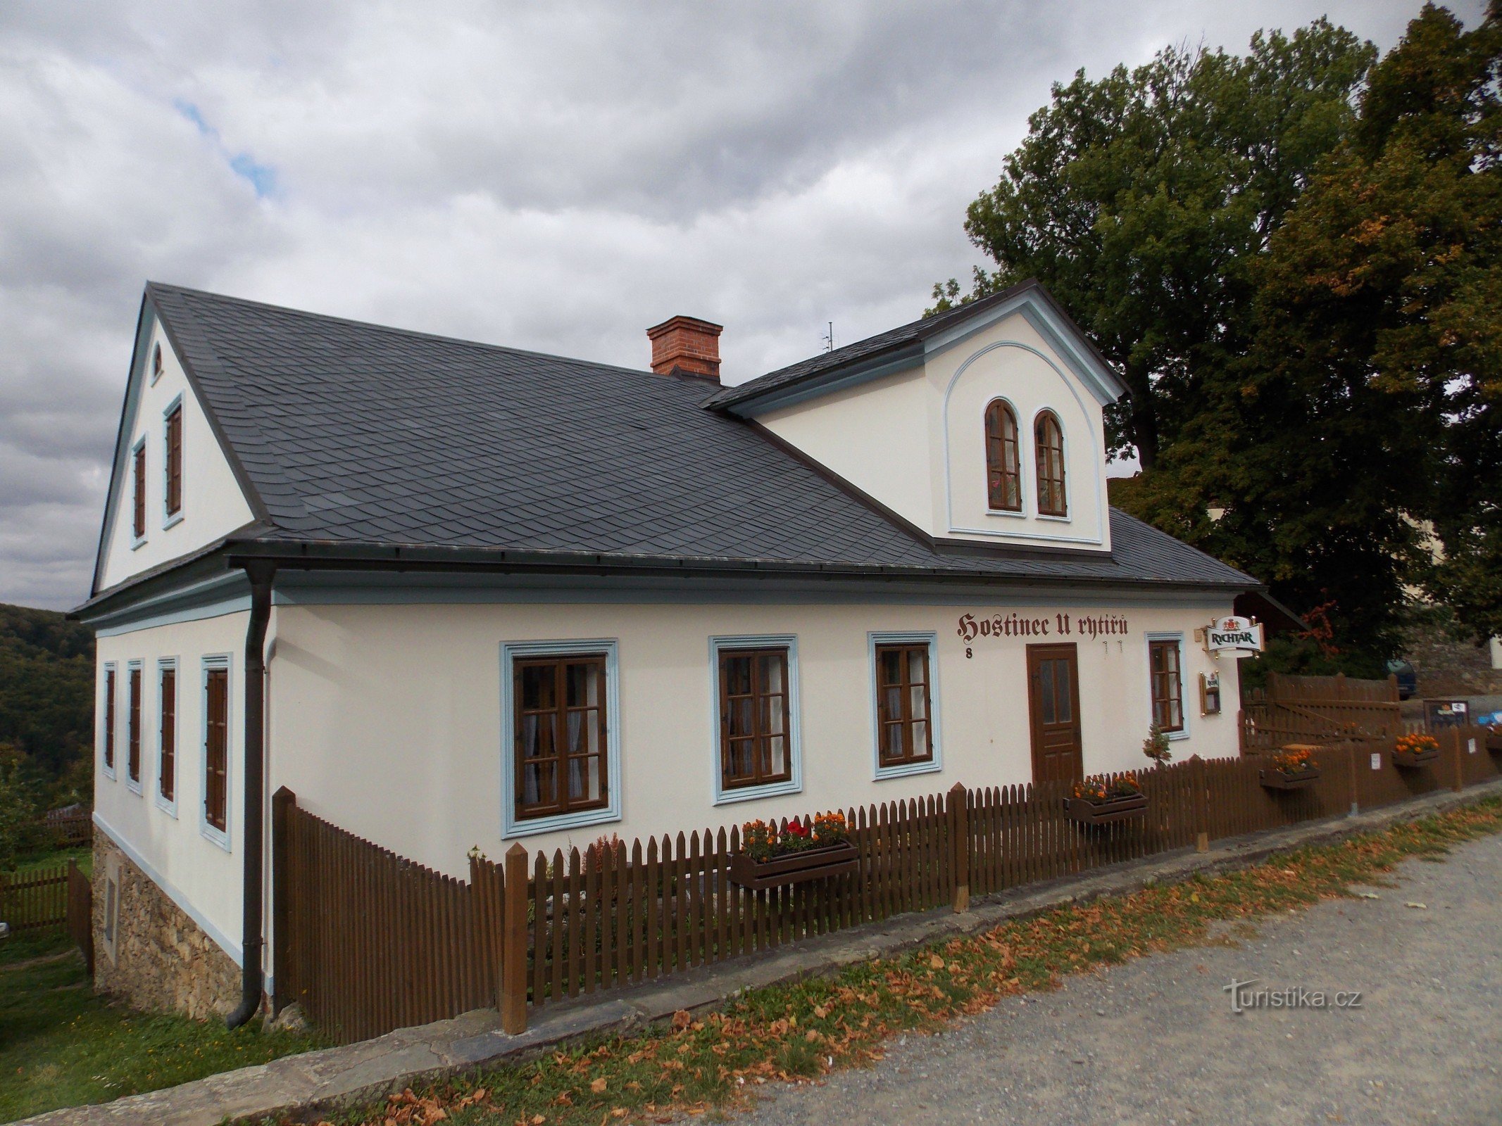
[[[104, 566], [99, 589], [107, 590], [132, 575], [167, 563], [245, 527], [252, 518], [234, 471], [209, 428], [182, 363], [173, 353], [161, 323], [152, 321], [137, 357], [131, 396], [126, 402], [128, 441], [117, 471], [105, 527]], [[162, 374], [152, 380], [152, 351], [162, 350]], [[167, 516], [167, 411], [182, 396], [183, 473], [182, 518]], [[131, 527], [134, 477], [131, 450], [146, 441], [146, 536], [137, 542]]]

